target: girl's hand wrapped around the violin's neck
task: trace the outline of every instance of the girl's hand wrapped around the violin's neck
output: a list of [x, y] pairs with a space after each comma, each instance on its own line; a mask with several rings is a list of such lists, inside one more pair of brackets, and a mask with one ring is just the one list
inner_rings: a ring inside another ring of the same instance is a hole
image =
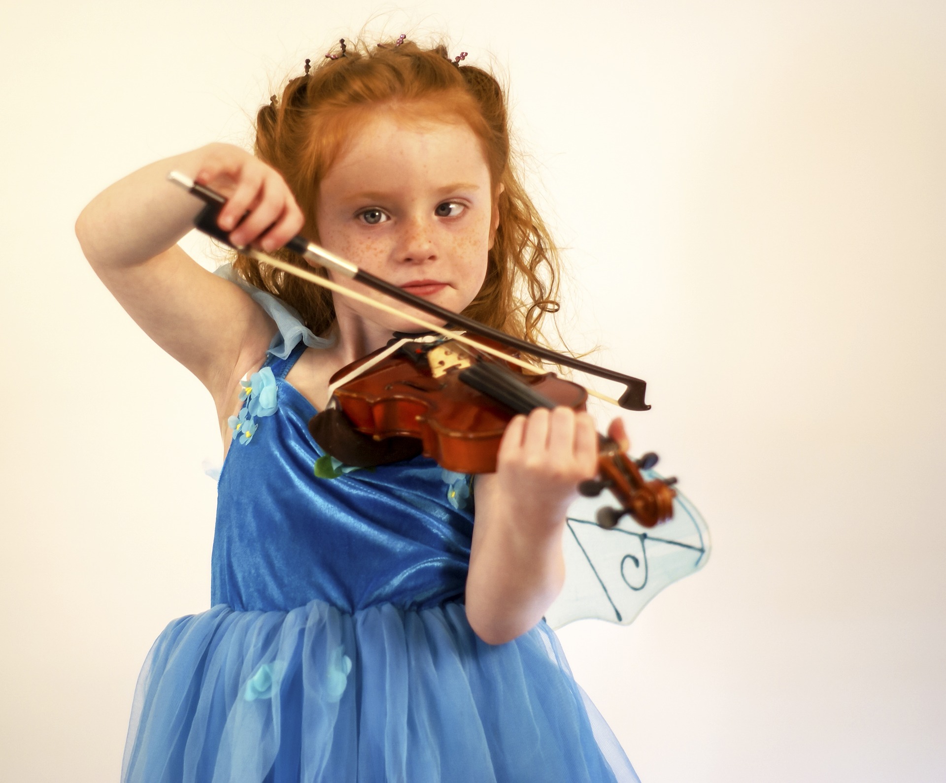
[[497, 489], [517, 524], [539, 530], [565, 520], [578, 484], [598, 472], [598, 435], [586, 412], [538, 408], [516, 416], [499, 444]]

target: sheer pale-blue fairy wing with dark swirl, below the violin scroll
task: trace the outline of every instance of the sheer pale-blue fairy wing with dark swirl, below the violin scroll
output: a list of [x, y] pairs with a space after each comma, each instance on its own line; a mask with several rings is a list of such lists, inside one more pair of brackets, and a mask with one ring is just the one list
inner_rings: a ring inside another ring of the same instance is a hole
[[[648, 471], [645, 478], [658, 477]], [[594, 521], [603, 504], [619, 506], [605, 490], [569, 507], [565, 586], [545, 616], [552, 628], [586, 618], [627, 625], [664, 587], [698, 571], [710, 557], [706, 522], [679, 490], [674, 518], [656, 528], [642, 528], [625, 514], [617, 527], [605, 530]]]

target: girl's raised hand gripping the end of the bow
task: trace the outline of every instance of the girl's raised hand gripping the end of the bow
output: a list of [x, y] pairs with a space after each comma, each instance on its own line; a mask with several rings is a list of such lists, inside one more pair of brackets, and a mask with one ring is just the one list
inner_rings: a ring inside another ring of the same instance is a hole
[[194, 180], [228, 196], [217, 223], [236, 247], [255, 244], [269, 252], [302, 231], [306, 219], [278, 171], [233, 145], [203, 152]]

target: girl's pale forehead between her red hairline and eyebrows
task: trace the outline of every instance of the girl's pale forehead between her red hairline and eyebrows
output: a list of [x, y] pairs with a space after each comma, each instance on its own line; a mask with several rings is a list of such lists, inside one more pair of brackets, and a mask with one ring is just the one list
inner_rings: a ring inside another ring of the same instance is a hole
[[348, 136], [323, 179], [346, 189], [366, 182], [403, 186], [468, 182], [489, 184], [489, 168], [477, 135], [459, 117], [399, 115], [396, 108], [368, 113]]

